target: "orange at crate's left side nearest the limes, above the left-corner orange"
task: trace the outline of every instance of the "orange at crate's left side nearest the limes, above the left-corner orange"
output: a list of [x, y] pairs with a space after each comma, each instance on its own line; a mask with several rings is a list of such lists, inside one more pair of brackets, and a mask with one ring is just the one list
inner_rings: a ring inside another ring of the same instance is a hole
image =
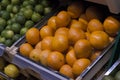
[[26, 40], [32, 45], [36, 45], [40, 41], [39, 29], [33, 27], [26, 32]]

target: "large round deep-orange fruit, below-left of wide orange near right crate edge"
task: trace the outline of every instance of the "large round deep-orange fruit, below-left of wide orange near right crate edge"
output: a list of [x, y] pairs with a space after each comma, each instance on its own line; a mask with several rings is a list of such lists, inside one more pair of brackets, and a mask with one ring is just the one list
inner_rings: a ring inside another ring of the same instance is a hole
[[88, 40], [80, 39], [75, 43], [74, 51], [77, 58], [87, 58], [91, 55], [93, 49]]

